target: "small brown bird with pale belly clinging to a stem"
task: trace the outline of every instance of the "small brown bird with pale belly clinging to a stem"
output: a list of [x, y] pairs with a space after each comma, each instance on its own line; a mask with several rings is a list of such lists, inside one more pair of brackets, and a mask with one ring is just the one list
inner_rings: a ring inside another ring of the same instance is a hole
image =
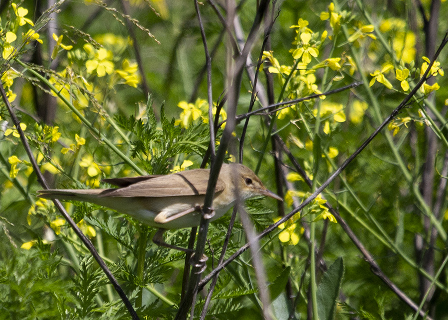
[[[210, 169], [192, 169], [169, 175], [149, 175], [104, 179], [112, 189], [46, 189], [37, 196], [44, 199], [89, 202], [130, 215], [143, 224], [158, 228], [153, 242], [181, 251], [187, 249], [165, 243], [163, 232], [198, 226], [210, 176]], [[255, 173], [238, 163], [223, 164], [215, 195], [211, 221], [223, 216], [236, 201], [256, 196], [282, 198], [266, 189]]]

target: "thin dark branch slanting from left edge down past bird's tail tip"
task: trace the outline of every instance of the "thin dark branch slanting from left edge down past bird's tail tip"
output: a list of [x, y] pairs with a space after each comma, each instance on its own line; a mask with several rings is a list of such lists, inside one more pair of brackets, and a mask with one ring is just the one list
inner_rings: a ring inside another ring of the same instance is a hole
[[[3, 102], [4, 102], [5, 106], [6, 106], [6, 108], [9, 111], [9, 115], [11, 116], [12, 122], [14, 123], [14, 125], [15, 125], [15, 127], [17, 129], [17, 132], [20, 135], [20, 140], [22, 141], [22, 145], [23, 145], [23, 147], [24, 147], [24, 149], [25, 149], [25, 151], [26, 151], [26, 153], [28, 155], [28, 158], [29, 158], [29, 161], [31, 162], [33, 170], [34, 170], [35, 174], [37, 175], [37, 180], [39, 181], [40, 185], [44, 189], [49, 189], [44, 176], [40, 172], [40, 168], [37, 165], [36, 159], [34, 158], [34, 155], [33, 155], [32, 151], [31, 151], [31, 148], [29, 146], [28, 140], [27, 140], [25, 134], [23, 133], [23, 131], [22, 131], [21, 127], [20, 127], [20, 121], [18, 120], [18, 118], [14, 114], [14, 112], [12, 110], [12, 107], [9, 104], [9, 101], [8, 101], [8, 99], [6, 97], [6, 93], [4, 92], [3, 85], [1, 83], [0, 83], [0, 94], [1, 94], [1, 98], [3, 99]], [[109, 278], [109, 281], [112, 283], [113, 288], [118, 293], [118, 295], [120, 296], [120, 298], [123, 301], [124, 305], [126, 306], [127, 310], [129, 311], [129, 314], [131, 315], [132, 319], [133, 320], [138, 320], [139, 318], [138, 318], [137, 313], [135, 312], [134, 308], [132, 308], [132, 304], [127, 299], [125, 293], [123, 292], [123, 290], [121, 289], [120, 285], [116, 281], [116, 279], [113, 276], [111, 270], [109, 270], [109, 268], [106, 265], [106, 263], [100, 257], [100, 255], [98, 254], [98, 251], [95, 249], [95, 247], [92, 244], [92, 242], [89, 240], [89, 238], [86, 235], [84, 235], [84, 233], [81, 231], [81, 229], [76, 225], [75, 221], [73, 221], [71, 216], [65, 211], [65, 209], [62, 206], [61, 202], [59, 200], [53, 200], [53, 202], [54, 202], [54, 205], [56, 206], [56, 208], [59, 210], [59, 212], [64, 216], [65, 220], [70, 224], [70, 226], [72, 227], [73, 231], [75, 231], [76, 235], [81, 239], [81, 241], [84, 243], [84, 245], [87, 247], [87, 249], [89, 249], [89, 251], [91, 252], [93, 257], [95, 258], [95, 260], [100, 265], [101, 269], [103, 269], [104, 273]]]

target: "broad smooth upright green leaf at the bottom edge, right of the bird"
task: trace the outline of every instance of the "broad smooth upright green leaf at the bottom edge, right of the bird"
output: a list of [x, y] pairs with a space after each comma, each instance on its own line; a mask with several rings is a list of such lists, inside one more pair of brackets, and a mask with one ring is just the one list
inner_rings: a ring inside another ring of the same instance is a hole
[[318, 287], [318, 314], [320, 320], [332, 320], [334, 318], [336, 299], [344, 273], [344, 262], [339, 257], [324, 274]]

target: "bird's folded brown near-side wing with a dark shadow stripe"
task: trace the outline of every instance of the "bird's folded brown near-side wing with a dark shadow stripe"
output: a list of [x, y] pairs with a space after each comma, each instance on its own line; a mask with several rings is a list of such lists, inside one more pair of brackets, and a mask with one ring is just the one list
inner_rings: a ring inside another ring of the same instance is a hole
[[[195, 169], [179, 173], [151, 177], [124, 188], [109, 189], [99, 197], [179, 197], [205, 195], [209, 181], [209, 170]], [[218, 179], [215, 193], [224, 190], [224, 182]]]

